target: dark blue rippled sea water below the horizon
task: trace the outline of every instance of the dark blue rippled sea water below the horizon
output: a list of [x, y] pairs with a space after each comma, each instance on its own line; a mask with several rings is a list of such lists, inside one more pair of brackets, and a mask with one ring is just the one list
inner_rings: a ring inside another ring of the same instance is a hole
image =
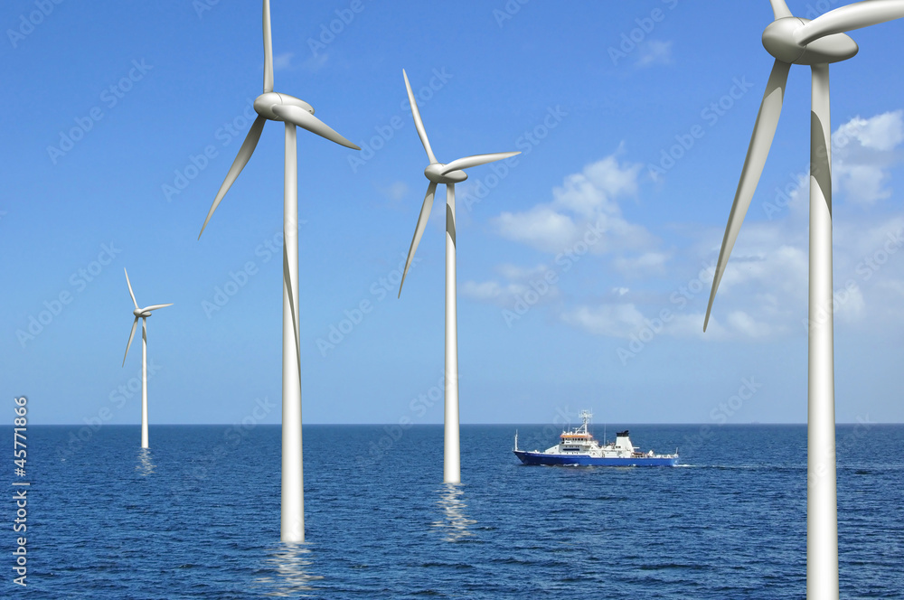
[[[515, 428], [463, 426], [464, 483], [445, 485], [441, 426], [306, 426], [290, 546], [278, 427], [152, 426], [148, 451], [138, 427], [29, 427], [28, 586], [10, 492], [2, 595], [805, 597], [805, 426], [631, 427], [678, 446], [676, 468], [523, 466]], [[559, 433], [517, 428], [523, 449]], [[904, 598], [904, 426], [836, 439], [842, 597]]]

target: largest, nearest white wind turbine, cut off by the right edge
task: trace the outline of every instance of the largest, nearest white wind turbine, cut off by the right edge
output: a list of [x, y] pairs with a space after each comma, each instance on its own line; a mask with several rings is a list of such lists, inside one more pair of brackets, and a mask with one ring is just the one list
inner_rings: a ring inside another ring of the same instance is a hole
[[797, 18], [785, 0], [770, 0], [775, 21], [763, 46], [775, 57], [728, 227], [712, 279], [703, 331], [712, 300], [741, 222], [757, 189], [775, 136], [788, 71], [792, 64], [812, 70], [810, 112], [810, 276], [809, 367], [807, 389], [806, 597], [838, 597], [838, 514], [835, 482], [835, 414], [832, 307], [832, 129], [829, 124], [829, 64], [846, 61], [858, 47], [843, 32], [904, 16], [904, 0], [864, 0], [814, 20]]

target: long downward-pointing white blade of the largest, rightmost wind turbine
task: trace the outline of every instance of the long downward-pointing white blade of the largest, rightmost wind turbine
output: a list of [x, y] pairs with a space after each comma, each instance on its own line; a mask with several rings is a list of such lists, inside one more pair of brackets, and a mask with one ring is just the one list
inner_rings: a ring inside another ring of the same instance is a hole
[[750, 145], [747, 150], [747, 158], [744, 159], [744, 168], [740, 172], [738, 191], [735, 193], [734, 202], [731, 204], [729, 223], [725, 228], [725, 237], [722, 238], [722, 247], [719, 250], [719, 262], [716, 264], [716, 272], [712, 277], [712, 290], [710, 302], [706, 306], [706, 317], [703, 320], [703, 331], [710, 322], [712, 301], [716, 297], [716, 290], [725, 266], [728, 264], [731, 248], [734, 248], [738, 239], [741, 223], [753, 200], [753, 193], [757, 191], [759, 176], [763, 173], [769, 148], [772, 146], [772, 138], [776, 135], [778, 117], [782, 114], [782, 102], [785, 99], [785, 86], [788, 79], [788, 70], [791, 65], [787, 62], [776, 61], [769, 74], [766, 85], [766, 93], [763, 94], [763, 102], [759, 105], [757, 122], [753, 126], [753, 136], [750, 137]]

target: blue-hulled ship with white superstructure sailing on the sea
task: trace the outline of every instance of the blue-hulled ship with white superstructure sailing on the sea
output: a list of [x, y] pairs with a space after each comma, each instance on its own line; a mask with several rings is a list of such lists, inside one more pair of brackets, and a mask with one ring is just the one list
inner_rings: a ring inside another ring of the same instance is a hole
[[562, 431], [558, 444], [545, 451], [528, 452], [518, 448], [518, 432], [514, 433], [514, 455], [523, 464], [561, 464], [579, 466], [674, 466], [678, 464], [678, 449], [673, 455], [656, 455], [653, 450], [643, 453], [631, 444], [627, 429], [616, 434], [614, 442], [602, 445], [589, 432], [589, 410], [579, 413], [580, 427]]

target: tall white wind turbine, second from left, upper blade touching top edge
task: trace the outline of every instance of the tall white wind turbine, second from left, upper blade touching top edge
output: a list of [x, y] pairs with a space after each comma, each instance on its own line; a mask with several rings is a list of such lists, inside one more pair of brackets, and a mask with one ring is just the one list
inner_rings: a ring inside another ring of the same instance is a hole
[[268, 121], [286, 123], [285, 195], [283, 209], [283, 380], [282, 380], [282, 510], [279, 538], [305, 541], [304, 472], [301, 443], [301, 348], [298, 335], [298, 148], [296, 127], [361, 150], [314, 116], [314, 108], [304, 100], [273, 91], [273, 43], [270, 38], [270, 3], [264, 0], [264, 92], [254, 100], [258, 117], [239, 148], [226, 181], [213, 201], [207, 219], [229, 192], [258, 145], [260, 132]]

